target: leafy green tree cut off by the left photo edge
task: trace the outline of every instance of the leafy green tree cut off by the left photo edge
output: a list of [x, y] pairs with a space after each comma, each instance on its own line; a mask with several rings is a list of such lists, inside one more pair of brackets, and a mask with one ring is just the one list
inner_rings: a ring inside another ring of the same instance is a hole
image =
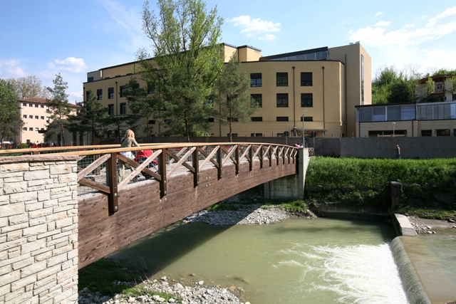
[[16, 135], [24, 125], [14, 88], [3, 79], [0, 79], [0, 109], [1, 149], [4, 139]]

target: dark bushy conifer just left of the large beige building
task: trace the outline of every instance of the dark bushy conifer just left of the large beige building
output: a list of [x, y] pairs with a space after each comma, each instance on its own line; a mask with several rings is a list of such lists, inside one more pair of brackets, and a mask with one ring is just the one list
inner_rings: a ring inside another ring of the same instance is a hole
[[87, 100], [81, 108], [76, 109], [76, 114], [68, 115], [67, 129], [79, 134], [90, 132], [92, 134], [91, 145], [93, 145], [93, 140], [99, 133], [104, 118], [108, 115], [108, 108], [103, 107], [92, 90], [88, 92]]

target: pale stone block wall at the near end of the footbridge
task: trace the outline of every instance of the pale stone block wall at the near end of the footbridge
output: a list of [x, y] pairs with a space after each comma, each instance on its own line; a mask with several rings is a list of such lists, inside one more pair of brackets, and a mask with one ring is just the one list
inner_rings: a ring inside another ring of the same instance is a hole
[[77, 157], [0, 157], [0, 304], [76, 303]]

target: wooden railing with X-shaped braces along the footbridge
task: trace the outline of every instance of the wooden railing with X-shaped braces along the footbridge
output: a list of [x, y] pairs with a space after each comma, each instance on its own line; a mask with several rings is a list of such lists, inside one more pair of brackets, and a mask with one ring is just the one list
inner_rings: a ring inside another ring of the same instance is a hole
[[[136, 162], [125, 157], [121, 152], [138, 152], [152, 150], [152, 155]], [[9, 150], [11, 151], [11, 150]], [[222, 179], [224, 165], [234, 164], [236, 174], [239, 174], [239, 164], [249, 162], [252, 171], [254, 161], [259, 161], [260, 168], [271, 167], [272, 162], [285, 164], [296, 163], [297, 150], [295, 147], [267, 143], [252, 142], [219, 142], [207, 145], [205, 143], [180, 143], [167, 145], [142, 144], [140, 147], [120, 148], [120, 145], [82, 146], [82, 147], [50, 147], [41, 149], [14, 150], [26, 154], [57, 153], [78, 155], [78, 194], [83, 195], [96, 191], [108, 196], [110, 214], [119, 210], [118, 194], [127, 184], [140, 176], [155, 179], [160, 183], [160, 198], [167, 195], [167, 179], [172, 174], [191, 172], [193, 187], [199, 184], [199, 172], [204, 167], [216, 167], [217, 179]], [[11, 153], [11, 152], [10, 152]], [[118, 161], [131, 168], [131, 173], [118, 181]], [[151, 164], [155, 163], [153, 166]]]

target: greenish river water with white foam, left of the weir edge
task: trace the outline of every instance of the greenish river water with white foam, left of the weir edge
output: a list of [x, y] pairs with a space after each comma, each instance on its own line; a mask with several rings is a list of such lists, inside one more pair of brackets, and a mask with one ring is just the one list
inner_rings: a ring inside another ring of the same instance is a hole
[[289, 219], [278, 224], [168, 226], [114, 258], [151, 278], [242, 288], [250, 303], [408, 303], [381, 222]]

